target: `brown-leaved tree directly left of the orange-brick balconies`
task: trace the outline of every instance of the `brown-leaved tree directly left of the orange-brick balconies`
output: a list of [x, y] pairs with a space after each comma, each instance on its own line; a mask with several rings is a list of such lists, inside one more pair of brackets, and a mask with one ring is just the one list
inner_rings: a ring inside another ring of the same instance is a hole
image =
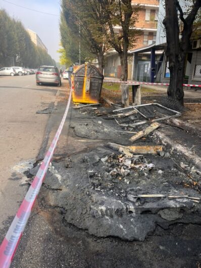
[[[104, 10], [105, 35], [111, 47], [120, 57], [121, 80], [128, 79], [128, 50], [134, 47], [137, 31], [134, 26], [138, 20], [138, 5], [132, 5], [132, 0], [98, 0]], [[119, 28], [119, 31], [116, 30]]]

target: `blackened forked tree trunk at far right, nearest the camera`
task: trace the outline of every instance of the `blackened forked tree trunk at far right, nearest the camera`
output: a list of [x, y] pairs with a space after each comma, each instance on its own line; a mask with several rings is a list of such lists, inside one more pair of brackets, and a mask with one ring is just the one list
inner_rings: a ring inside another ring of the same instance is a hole
[[[170, 69], [168, 97], [177, 100], [183, 105], [183, 78], [186, 55], [190, 47], [193, 22], [201, 7], [201, 0], [190, 1], [190, 10], [186, 9], [187, 12], [184, 12], [184, 8], [180, 5], [180, 2], [179, 0], [165, 0], [166, 17], [163, 24], [166, 28], [166, 56]], [[186, 0], [186, 4], [189, 4], [189, 1]], [[180, 27], [179, 20], [181, 21], [182, 27]]]

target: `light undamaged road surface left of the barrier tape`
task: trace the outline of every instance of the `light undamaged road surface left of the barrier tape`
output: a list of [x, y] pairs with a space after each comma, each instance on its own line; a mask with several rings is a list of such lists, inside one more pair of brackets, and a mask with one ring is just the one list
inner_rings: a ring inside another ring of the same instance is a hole
[[23, 169], [35, 162], [48, 114], [36, 114], [55, 102], [56, 86], [36, 86], [35, 75], [0, 77], [0, 228], [15, 215], [26, 177]]

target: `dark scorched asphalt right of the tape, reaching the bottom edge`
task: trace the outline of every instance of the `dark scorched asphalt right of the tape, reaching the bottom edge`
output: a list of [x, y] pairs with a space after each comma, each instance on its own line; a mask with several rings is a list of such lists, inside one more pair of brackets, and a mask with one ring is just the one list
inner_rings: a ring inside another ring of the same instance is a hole
[[[129, 119], [108, 119], [112, 110], [71, 109], [12, 267], [199, 267], [201, 208], [188, 198], [200, 198], [197, 169], [165, 147], [133, 157], [111, 149], [145, 127], [120, 126]], [[133, 145], [144, 144], [157, 143], [150, 134]]]

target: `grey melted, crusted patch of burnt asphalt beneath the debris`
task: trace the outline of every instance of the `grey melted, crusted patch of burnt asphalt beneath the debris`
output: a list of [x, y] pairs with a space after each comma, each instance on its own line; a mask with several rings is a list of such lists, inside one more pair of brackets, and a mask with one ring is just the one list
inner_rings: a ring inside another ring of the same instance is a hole
[[[122, 135], [118, 132], [124, 131], [121, 126], [103, 118], [111, 112], [104, 107], [73, 110], [70, 135], [75, 140], [81, 137], [99, 140], [99, 143], [95, 142], [90, 151], [52, 162], [44, 182], [49, 190], [47, 204], [62, 207], [68, 224], [97, 237], [143, 241], [157, 226], [167, 229], [173, 224], [199, 225], [199, 203], [188, 198], [168, 197], [200, 197], [196, 189], [184, 187], [186, 174], [175, 166], [171, 159], [175, 157], [173, 153], [129, 158], [106, 147], [107, 141], [129, 144], [132, 136], [127, 132]], [[139, 125], [136, 129], [142, 128]], [[146, 141], [154, 144], [150, 137]], [[37, 167], [30, 172], [34, 174], [36, 170]], [[138, 198], [140, 194], [166, 197]]]

